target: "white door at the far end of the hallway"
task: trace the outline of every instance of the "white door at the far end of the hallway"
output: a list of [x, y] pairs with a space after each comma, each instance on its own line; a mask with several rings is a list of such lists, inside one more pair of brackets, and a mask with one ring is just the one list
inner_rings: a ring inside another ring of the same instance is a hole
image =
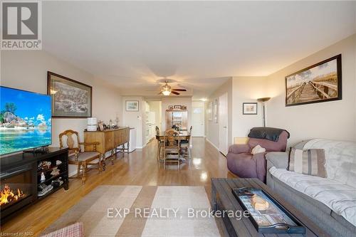
[[[204, 123], [204, 102], [193, 102], [193, 114], [192, 114], [192, 136], [204, 137], [205, 123]], [[189, 128], [188, 128], [189, 130]]]

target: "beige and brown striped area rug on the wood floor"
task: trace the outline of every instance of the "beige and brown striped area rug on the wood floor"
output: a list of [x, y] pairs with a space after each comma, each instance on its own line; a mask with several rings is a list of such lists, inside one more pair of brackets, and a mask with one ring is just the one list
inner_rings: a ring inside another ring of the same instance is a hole
[[220, 236], [203, 186], [98, 186], [42, 234], [82, 222], [85, 236]]

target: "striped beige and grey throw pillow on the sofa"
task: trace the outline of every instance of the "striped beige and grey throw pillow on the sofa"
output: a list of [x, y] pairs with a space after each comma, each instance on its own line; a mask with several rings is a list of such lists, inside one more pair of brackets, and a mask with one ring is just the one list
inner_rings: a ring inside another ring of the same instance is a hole
[[288, 170], [326, 178], [324, 149], [290, 148]]

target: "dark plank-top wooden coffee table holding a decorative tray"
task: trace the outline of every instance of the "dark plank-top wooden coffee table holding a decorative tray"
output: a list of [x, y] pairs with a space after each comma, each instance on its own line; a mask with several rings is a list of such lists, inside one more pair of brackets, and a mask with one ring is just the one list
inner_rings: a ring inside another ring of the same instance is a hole
[[305, 234], [263, 234], [258, 233], [249, 218], [242, 217], [241, 220], [236, 218], [216, 218], [221, 227], [224, 228], [223, 232], [226, 236], [268, 236], [268, 237], [315, 237], [315, 236], [329, 236], [322, 229], [315, 225], [310, 219], [300, 213], [295, 207], [286, 202], [281, 196], [275, 194], [266, 184], [263, 184], [259, 179], [211, 179], [211, 205], [214, 211], [241, 211], [244, 209], [239, 205], [235, 196], [232, 194], [231, 189], [251, 187], [256, 189], [263, 189], [267, 194], [273, 196], [282, 206], [284, 206], [290, 213], [292, 213], [300, 223], [305, 226]]

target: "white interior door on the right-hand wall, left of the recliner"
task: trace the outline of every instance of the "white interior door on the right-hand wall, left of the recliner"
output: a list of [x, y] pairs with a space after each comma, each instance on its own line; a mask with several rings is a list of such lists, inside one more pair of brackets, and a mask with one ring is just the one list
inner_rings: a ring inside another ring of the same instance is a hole
[[219, 97], [219, 150], [226, 155], [228, 152], [228, 96]]

